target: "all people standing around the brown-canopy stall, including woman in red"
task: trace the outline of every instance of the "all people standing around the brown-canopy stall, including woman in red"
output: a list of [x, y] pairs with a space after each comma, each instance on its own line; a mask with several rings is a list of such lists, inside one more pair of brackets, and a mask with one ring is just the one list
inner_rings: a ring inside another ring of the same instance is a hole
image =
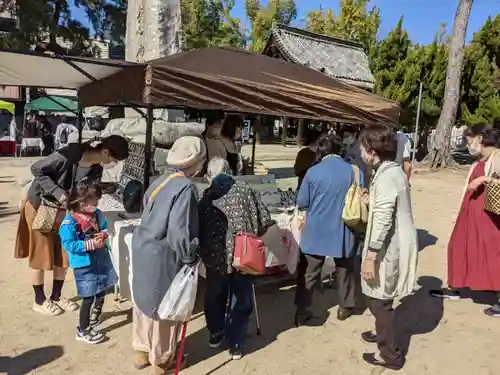
[[[233, 359], [244, 355], [245, 335], [253, 309], [254, 276], [233, 267], [235, 236], [263, 236], [275, 225], [259, 194], [234, 178], [240, 171], [235, 140], [242, 121], [237, 116], [208, 119], [203, 138], [178, 139], [167, 156], [169, 169], [144, 195], [134, 232], [131, 263], [135, 366], [152, 366], [154, 374], [175, 367], [179, 322], [162, 320], [158, 308], [173, 279], [185, 265], [203, 261], [207, 290], [207, 341], [224, 341]], [[362, 334], [378, 351], [363, 354], [374, 366], [393, 370], [405, 364], [395, 333], [393, 303], [414, 292], [418, 239], [412, 217], [409, 142], [392, 128], [375, 125], [356, 133], [310, 133], [297, 156], [297, 208], [301, 254], [297, 267], [295, 324], [314, 316], [314, 292], [321, 287], [326, 257], [336, 265], [337, 318], [362, 313], [364, 300], [375, 327]], [[500, 135], [488, 126], [466, 133], [471, 168], [462, 208], [449, 244], [449, 288], [430, 291], [458, 299], [460, 288], [500, 291], [499, 218], [484, 211], [485, 185], [498, 183]], [[346, 144], [346, 139], [348, 142]], [[344, 140], [344, 141], [343, 141]], [[35, 177], [23, 204], [16, 257], [33, 269], [33, 309], [47, 315], [80, 309], [76, 338], [90, 344], [104, 340], [97, 329], [106, 290], [117, 282], [106, 249], [107, 222], [97, 209], [103, 168], [127, 158], [126, 139], [113, 135], [101, 142], [70, 144], [32, 166]], [[206, 175], [201, 196], [192, 180]], [[353, 230], [343, 220], [350, 188], [368, 210], [366, 226]], [[57, 230], [33, 229], [41, 207], [64, 205]], [[62, 297], [67, 268], [73, 268], [81, 306]], [[53, 271], [53, 290], [44, 292], [44, 271]], [[362, 291], [362, 293], [360, 293]], [[228, 303], [228, 301], [230, 303]], [[499, 316], [500, 305], [485, 311]]]

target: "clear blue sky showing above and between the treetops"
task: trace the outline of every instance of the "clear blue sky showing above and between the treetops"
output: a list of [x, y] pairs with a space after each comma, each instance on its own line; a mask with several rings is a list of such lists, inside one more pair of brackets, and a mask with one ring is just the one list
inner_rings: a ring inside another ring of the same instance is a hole
[[[261, 0], [264, 3], [266, 0]], [[307, 13], [322, 7], [333, 8], [338, 13], [340, 0], [297, 0], [298, 25], [305, 25]], [[458, 0], [372, 0], [372, 5], [381, 9], [380, 35], [383, 38], [404, 16], [404, 27], [408, 30], [413, 42], [422, 44], [431, 43], [436, 31], [442, 23], [448, 25], [450, 31], [453, 27]], [[468, 39], [478, 31], [488, 16], [500, 13], [500, 0], [475, 0], [468, 27]], [[236, 0], [233, 14], [245, 20], [244, 0]], [[83, 13], [75, 9], [75, 16], [83, 18]]]

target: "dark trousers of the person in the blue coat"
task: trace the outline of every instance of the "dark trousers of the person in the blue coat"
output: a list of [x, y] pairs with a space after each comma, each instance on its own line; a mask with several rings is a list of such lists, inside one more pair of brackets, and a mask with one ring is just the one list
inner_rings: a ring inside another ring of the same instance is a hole
[[[360, 277], [356, 274], [357, 259], [357, 257], [335, 258], [339, 306], [344, 309], [356, 307], [356, 285]], [[300, 254], [295, 292], [295, 306], [299, 312], [311, 307], [314, 291], [322, 286], [321, 269], [324, 264], [324, 256]]]

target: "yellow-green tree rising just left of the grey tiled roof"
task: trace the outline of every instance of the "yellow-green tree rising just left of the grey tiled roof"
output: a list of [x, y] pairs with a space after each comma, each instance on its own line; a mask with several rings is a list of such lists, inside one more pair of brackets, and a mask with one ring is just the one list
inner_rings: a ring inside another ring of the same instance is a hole
[[295, 0], [269, 0], [266, 6], [259, 0], [245, 0], [245, 10], [250, 20], [250, 50], [262, 52], [273, 24], [289, 25], [297, 17]]

